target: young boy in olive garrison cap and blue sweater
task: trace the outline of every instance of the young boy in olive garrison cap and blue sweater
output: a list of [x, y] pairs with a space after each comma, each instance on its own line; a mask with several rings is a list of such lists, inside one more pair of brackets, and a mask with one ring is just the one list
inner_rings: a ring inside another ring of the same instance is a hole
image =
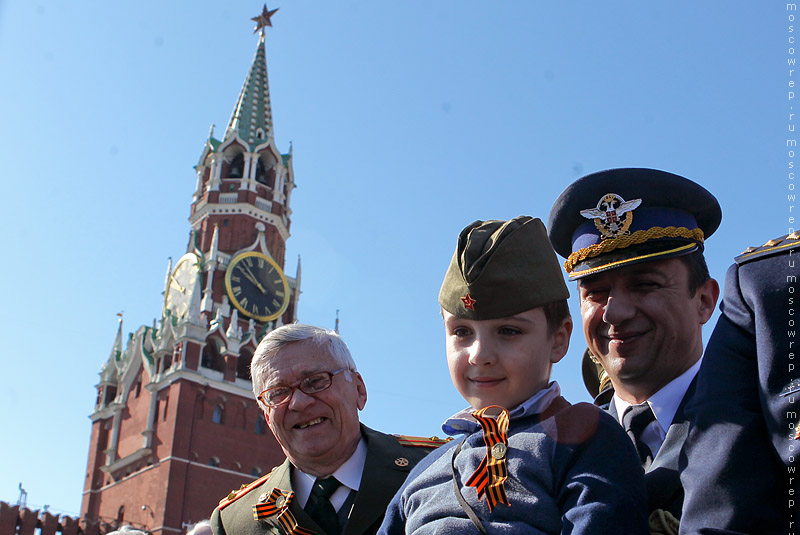
[[639, 459], [620, 425], [550, 382], [566, 354], [569, 292], [539, 219], [476, 221], [439, 293], [447, 364], [470, 404], [378, 531], [649, 534]]

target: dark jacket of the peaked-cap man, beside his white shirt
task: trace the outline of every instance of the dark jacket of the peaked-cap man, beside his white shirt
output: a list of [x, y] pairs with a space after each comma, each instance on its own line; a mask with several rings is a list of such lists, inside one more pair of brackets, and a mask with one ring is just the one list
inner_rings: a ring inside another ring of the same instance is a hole
[[[662, 509], [672, 513], [680, 519], [683, 506], [683, 486], [680, 478], [681, 449], [689, 433], [689, 421], [685, 409], [687, 403], [695, 395], [697, 377], [689, 384], [686, 394], [683, 395], [675, 417], [667, 430], [664, 442], [658, 449], [650, 467], [645, 470], [644, 481], [647, 487], [647, 501], [649, 510]], [[608, 412], [619, 422], [619, 415], [613, 403], [608, 406]]]

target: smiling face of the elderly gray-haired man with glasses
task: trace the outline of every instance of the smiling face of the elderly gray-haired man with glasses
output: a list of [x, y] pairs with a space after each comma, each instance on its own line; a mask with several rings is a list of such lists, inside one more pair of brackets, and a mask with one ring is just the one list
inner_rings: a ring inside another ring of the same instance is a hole
[[[322, 371], [341, 368], [330, 353], [309, 342], [293, 342], [268, 360], [265, 388], [296, 386]], [[287, 403], [264, 411], [267, 424], [289, 460], [315, 476], [333, 473], [355, 451], [361, 437], [358, 411], [367, 390], [358, 372], [333, 376], [316, 394], [295, 389]]]

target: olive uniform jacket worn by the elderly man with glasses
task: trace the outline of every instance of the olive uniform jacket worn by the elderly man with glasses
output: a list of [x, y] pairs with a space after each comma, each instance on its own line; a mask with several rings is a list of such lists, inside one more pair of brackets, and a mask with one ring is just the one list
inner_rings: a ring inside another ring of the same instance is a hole
[[[342, 535], [374, 534], [383, 520], [386, 505], [403, 484], [411, 468], [430, 451], [430, 447], [404, 446], [397, 438], [362, 425], [367, 441], [367, 459], [355, 502], [343, 526]], [[244, 489], [232, 500], [223, 500], [211, 515], [214, 535], [262, 535], [286, 533], [276, 517], [256, 520], [253, 506], [264, 503], [274, 489], [292, 490], [291, 464], [288, 459], [269, 475]], [[294, 501], [288, 511], [297, 524], [317, 535], [325, 532]]]

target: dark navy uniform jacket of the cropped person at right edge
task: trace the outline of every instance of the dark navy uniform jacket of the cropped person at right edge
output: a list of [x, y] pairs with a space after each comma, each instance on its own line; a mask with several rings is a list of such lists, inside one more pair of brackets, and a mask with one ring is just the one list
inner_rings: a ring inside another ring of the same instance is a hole
[[770, 240], [728, 269], [722, 314], [687, 408], [681, 533], [791, 531], [788, 482], [800, 451], [798, 238]]

